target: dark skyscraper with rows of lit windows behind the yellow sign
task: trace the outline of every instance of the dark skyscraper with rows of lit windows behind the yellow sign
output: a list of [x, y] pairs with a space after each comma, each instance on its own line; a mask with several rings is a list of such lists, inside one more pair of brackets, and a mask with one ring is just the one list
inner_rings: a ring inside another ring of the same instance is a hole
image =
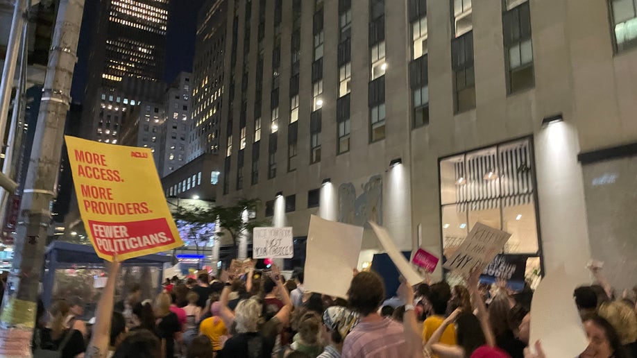
[[83, 137], [117, 144], [127, 115], [164, 93], [169, 0], [101, 0], [92, 31]]

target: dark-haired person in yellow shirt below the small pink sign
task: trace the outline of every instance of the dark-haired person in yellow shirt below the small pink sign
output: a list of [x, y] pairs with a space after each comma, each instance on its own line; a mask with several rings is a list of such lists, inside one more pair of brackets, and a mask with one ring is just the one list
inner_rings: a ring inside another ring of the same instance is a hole
[[[450, 298], [451, 288], [444, 281], [432, 284], [429, 292], [425, 293], [425, 299], [429, 301], [433, 314], [427, 317], [423, 323], [423, 342], [427, 343], [438, 327], [445, 321], [445, 312], [447, 312], [447, 303]], [[454, 325], [448, 325], [439, 342], [449, 346], [456, 345], [456, 328]]]

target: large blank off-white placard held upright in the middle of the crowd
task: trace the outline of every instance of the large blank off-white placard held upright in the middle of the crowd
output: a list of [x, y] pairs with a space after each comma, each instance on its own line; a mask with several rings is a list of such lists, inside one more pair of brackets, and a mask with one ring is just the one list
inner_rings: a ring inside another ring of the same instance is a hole
[[362, 227], [312, 215], [305, 248], [305, 290], [347, 298], [362, 241]]

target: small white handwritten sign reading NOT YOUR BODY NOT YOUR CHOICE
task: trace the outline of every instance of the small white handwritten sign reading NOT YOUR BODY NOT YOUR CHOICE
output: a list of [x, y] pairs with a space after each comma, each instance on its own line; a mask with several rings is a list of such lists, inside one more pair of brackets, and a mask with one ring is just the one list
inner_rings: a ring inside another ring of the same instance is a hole
[[254, 228], [253, 259], [291, 259], [294, 257], [292, 228]]

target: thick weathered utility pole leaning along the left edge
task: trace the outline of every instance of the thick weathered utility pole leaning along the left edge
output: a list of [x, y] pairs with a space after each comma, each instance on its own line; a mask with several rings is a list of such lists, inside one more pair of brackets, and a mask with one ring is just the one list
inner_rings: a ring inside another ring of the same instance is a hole
[[56, 196], [83, 8], [84, 0], [60, 0], [58, 7], [18, 216], [13, 266], [0, 314], [0, 357], [31, 357], [44, 244]]

